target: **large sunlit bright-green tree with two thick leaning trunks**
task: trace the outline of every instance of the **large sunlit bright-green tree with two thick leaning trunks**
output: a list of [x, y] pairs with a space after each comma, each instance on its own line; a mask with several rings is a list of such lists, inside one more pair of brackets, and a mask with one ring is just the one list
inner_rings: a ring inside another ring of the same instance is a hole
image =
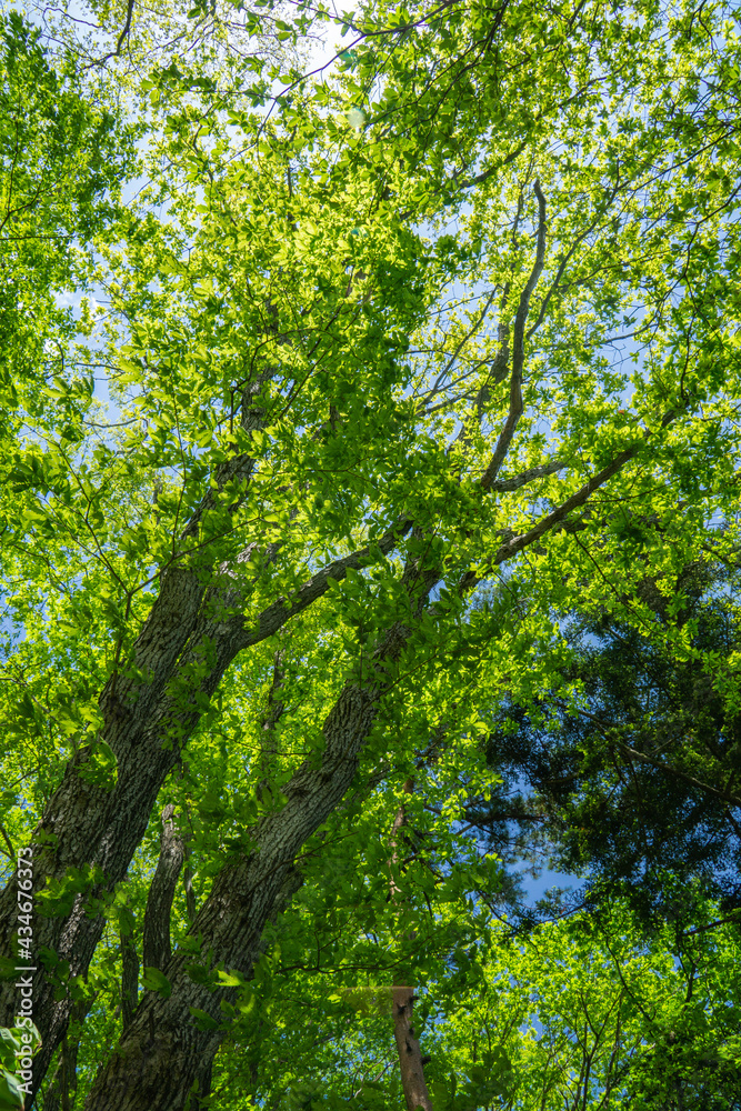
[[[738, 40], [701, 16], [381, 4], [269, 104], [262, 77], [146, 79], [150, 182], [97, 241], [107, 308], [60, 337], [63, 412], [28, 414], [3, 491], [34, 1091], [86, 1008], [99, 1047], [118, 1032], [114, 945], [126, 1030], [86, 1107], [202, 1103], [302, 879], [349, 822], [385, 867], [412, 774], [443, 890], [494, 882], [455, 820], [491, 783], [497, 692], [558, 665], [554, 607], [604, 594], [593, 550], [624, 593], [734, 512]], [[614, 527], [637, 500], [648, 550]]]

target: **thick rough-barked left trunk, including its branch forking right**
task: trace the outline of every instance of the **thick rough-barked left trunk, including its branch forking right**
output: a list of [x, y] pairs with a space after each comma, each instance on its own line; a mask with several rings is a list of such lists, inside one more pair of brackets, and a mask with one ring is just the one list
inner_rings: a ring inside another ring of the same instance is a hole
[[[251, 411], [246, 427], [258, 428]], [[218, 476], [247, 481], [253, 461], [240, 457]], [[211, 491], [194, 512], [181, 538], [183, 551], [197, 549], [199, 524], [213, 508]], [[408, 522], [389, 530], [379, 548], [388, 553], [408, 529]], [[102, 899], [121, 882], [149, 823], [162, 783], [177, 765], [180, 753], [202, 714], [203, 701], [218, 689], [238, 652], [277, 632], [341, 579], [351, 567], [372, 562], [370, 549], [354, 552], [322, 568], [300, 588], [296, 598], [279, 598], [254, 624], [242, 617], [244, 584], [223, 565], [209, 568], [203, 553], [183, 554], [161, 577], [160, 593], [132, 649], [137, 673], [114, 673], [100, 697], [104, 728], [100, 740], [112, 749], [117, 779], [112, 790], [96, 787], [80, 775], [92, 758], [90, 745], [80, 749], [68, 764], [33, 834], [33, 943], [54, 951], [69, 962], [70, 977], [84, 975], [101, 938], [104, 919], [87, 913], [89, 902]], [[239, 558], [236, 559], [239, 563]], [[210, 584], [208, 584], [210, 575]], [[209, 645], [204, 653], [203, 645]], [[173, 697], [180, 675], [208, 670], [200, 685], [192, 678], [184, 693]], [[146, 678], [137, 678], [144, 675]], [[200, 703], [200, 704], [199, 704]], [[48, 881], [63, 882], [69, 869], [87, 871], [82, 890], [68, 915], [41, 917], [38, 894]], [[94, 869], [94, 871], [93, 871]], [[0, 895], [0, 952], [13, 952], [17, 928], [17, 877], [13, 874]], [[38, 1092], [56, 1049], [69, 1023], [71, 999], [57, 999], [56, 985], [36, 960], [33, 974], [34, 1021], [42, 1045], [34, 1059], [33, 1095]], [[12, 982], [0, 984], [0, 1024], [12, 1025], [16, 990]]]

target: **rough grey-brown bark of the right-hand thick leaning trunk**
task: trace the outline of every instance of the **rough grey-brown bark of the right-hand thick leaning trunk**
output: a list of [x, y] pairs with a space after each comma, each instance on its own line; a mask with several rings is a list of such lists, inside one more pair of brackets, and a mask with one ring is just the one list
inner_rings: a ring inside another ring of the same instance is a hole
[[[420, 571], [408, 564], [404, 584], [419, 615], [439, 568]], [[306, 760], [283, 789], [287, 802], [267, 814], [251, 834], [249, 855], [229, 862], [217, 875], [211, 894], [191, 928], [201, 935], [202, 952], [211, 968], [252, 972], [267, 921], [286, 899], [293, 860], [350, 787], [360, 753], [388, 689], [388, 664], [399, 657], [411, 630], [394, 624], [374, 654], [367, 682], [343, 688], [323, 725], [321, 759]], [[220, 1004], [233, 989], [193, 982], [190, 952], [177, 951], [163, 969], [171, 994], [161, 999], [148, 992], [130, 1030], [98, 1074], [86, 1103], [87, 1111], [181, 1111], [199, 1069], [213, 1060], [221, 1040], [218, 1030], [201, 1030], [192, 1008], [221, 1022]], [[176, 1079], [177, 1078], [177, 1079]]]

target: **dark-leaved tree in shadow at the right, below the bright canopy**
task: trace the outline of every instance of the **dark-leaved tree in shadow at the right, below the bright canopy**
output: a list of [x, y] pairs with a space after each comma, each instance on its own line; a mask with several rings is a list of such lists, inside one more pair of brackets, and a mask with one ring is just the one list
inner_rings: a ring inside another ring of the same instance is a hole
[[[490, 849], [508, 823], [534, 823], [557, 867], [587, 873], [593, 910], [622, 892], [648, 922], [689, 928], [699, 882], [721, 914], [738, 911], [737, 570], [711, 560], [712, 546], [675, 581], [639, 583], [633, 624], [573, 620], [561, 690], [503, 707], [489, 740], [503, 784], [470, 818]], [[523, 778], [532, 793], [517, 795]]]

